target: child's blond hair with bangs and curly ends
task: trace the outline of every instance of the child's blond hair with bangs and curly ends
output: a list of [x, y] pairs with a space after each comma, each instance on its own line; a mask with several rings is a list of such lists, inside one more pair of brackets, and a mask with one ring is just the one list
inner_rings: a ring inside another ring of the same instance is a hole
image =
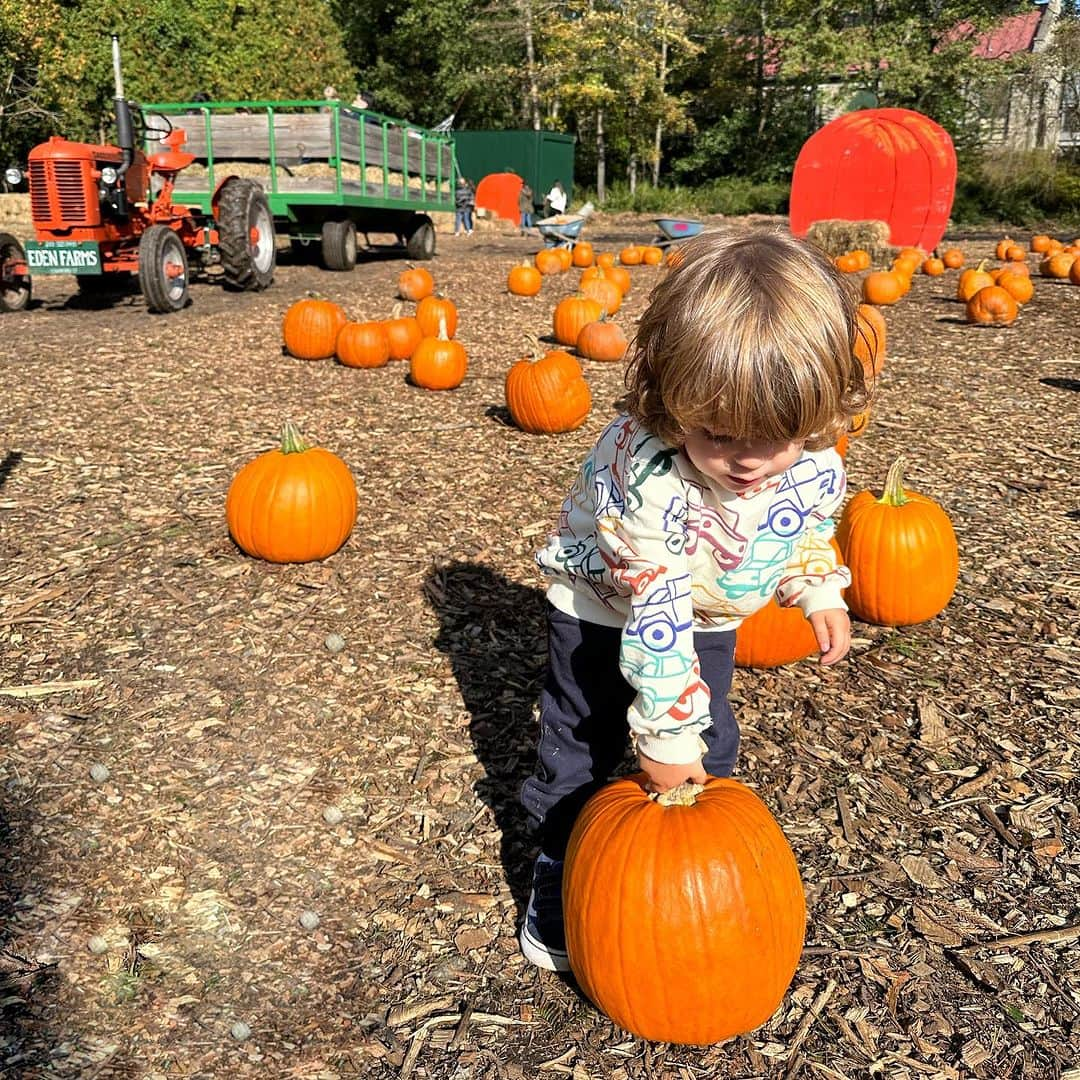
[[858, 300], [832, 260], [779, 229], [702, 233], [653, 288], [626, 409], [671, 446], [696, 429], [832, 446], [869, 401]]

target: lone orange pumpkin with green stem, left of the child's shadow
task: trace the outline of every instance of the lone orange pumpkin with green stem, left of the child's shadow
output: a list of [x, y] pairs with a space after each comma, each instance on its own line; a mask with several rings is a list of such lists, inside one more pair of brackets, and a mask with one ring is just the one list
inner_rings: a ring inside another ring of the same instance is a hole
[[336, 454], [308, 446], [287, 420], [279, 448], [260, 454], [232, 477], [225, 518], [232, 539], [256, 558], [326, 558], [356, 521], [356, 484]]

